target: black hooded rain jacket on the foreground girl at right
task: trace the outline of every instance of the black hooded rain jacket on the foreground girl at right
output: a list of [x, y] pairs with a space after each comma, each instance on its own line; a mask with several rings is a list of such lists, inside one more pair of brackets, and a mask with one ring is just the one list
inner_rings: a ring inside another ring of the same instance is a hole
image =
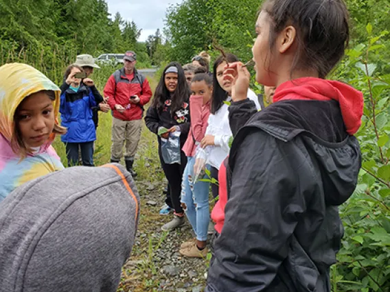
[[[233, 102], [225, 223], [206, 292], [328, 292], [360, 147], [337, 101]], [[247, 122], [246, 122], [247, 121]], [[242, 126], [244, 125], [244, 126]]]

